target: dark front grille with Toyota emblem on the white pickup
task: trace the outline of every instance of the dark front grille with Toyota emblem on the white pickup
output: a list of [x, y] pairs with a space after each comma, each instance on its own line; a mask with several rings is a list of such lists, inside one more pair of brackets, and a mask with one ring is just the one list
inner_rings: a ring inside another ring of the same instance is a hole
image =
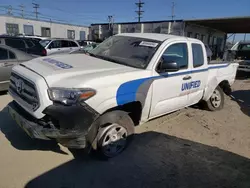
[[9, 92], [16, 101], [35, 111], [39, 108], [39, 99], [35, 85], [27, 79], [11, 73]]

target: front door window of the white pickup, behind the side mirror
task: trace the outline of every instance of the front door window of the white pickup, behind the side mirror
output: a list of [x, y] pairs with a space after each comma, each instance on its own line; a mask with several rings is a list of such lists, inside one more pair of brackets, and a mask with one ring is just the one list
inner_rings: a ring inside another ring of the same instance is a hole
[[186, 43], [176, 43], [169, 46], [162, 55], [166, 62], [176, 62], [179, 69], [188, 68], [188, 48]]

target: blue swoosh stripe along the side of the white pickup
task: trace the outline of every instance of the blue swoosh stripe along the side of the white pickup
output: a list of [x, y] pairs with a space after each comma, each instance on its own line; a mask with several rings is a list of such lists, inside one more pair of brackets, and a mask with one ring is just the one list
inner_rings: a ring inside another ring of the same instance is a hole
[[137, 90], [139, 89], [141, 84], [143, 84], [147, 80], [166, 78], [166, 77], [174, 77], [174, 76], [199, 73], [199, 72], [206, 72], [209, 69], [226, 68], [228, 66], [229, 66], [229, 64], [220, 65], [220, 66], [209, 66], [208, 68], [205, 68], [205, 69], [178, 72], [178, 73], [172, 73], [172, 74], [166, 73], [166, 74], [162, 74], [159, 76], [131, 80], [131, 81], [125, 82], [125, 83], [120, 85], [120, 87], [118, 88], [117, 93], [116, 93], [116, 101], [117, 101], [118, 105], [123, 105], [123, 104], [129, 103], [129, 102], [136, 101]]

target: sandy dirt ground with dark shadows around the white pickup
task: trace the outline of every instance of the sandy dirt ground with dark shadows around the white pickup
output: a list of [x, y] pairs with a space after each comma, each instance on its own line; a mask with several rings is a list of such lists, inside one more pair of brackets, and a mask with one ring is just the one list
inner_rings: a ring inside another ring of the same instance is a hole
[[10, 119], [0, 96], [0, 188], [249, 188], [250, 79], [238, 79], [225, 107], [190, 107], [137, 127], [129, 148], [109, 161], [75, 157], [32, 140]]

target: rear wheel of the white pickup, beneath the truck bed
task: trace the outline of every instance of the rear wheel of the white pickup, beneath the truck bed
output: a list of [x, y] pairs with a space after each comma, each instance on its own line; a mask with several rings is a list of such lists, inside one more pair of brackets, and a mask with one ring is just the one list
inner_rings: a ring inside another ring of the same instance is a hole
[[206, 101], [206, 107], [210, 111], [221, 110], [224, 107], [224, 93], [219, 86], [215, 88], [209, 100]]

